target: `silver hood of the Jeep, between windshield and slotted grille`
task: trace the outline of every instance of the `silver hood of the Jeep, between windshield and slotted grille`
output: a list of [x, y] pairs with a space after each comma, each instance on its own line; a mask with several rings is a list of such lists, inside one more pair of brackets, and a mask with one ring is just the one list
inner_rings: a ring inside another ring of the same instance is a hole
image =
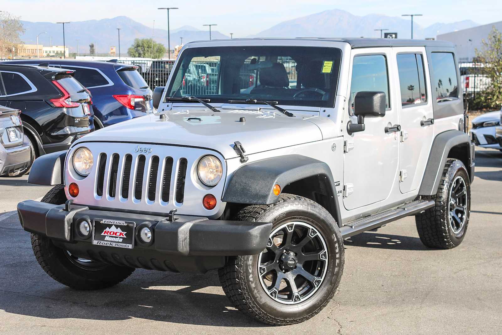
[[[225, 110], [214, 113], [209, 109], [171, 110], [162, 120], [159, 114], [122, 122], [90, 133], [76, 143], [131, 142], [168, 144], [208, 148], [223, 158], [237, 157], [233, 143], [239, 141], [246, 155], [298, 144], [320, 141], [322, 134], [316, 123], [268, 111]], [[245, 122], [239, 122], [245, 118]], [[324, 118], [322, 118], [324, 119]]]

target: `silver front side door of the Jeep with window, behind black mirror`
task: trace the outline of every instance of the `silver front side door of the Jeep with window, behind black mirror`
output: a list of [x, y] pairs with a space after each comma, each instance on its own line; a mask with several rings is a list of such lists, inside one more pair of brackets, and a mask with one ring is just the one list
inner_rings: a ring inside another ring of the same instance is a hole
[[348, 119], [357, 123], [352, 102], [360, 91], [385, 92], [387, 109], [384, 117], [366, 117], [362, 132], [348, 134], [344, 125], [343, 205], [348, 210], [374, 204], [389, 196], [396, 179], [399, 150], [398, 133], [385, 131], [386, 127], [397, 125], [399, 120], [398, 109], [390, 95], [390, 91], [394, 91], [390, 87], [395, 85], [389, 76], [392, 51], [390, 48], [372, 48], [354, 53], [350, 91], [347, 93]]

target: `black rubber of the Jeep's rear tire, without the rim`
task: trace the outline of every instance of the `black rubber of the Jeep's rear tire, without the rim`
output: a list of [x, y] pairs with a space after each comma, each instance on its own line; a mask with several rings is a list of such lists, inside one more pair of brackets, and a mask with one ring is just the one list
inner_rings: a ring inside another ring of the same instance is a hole
[[[465, 224], [458, 234], [450, 227], [448, 202], [453, 180], [461, 176], [467, 191], [467, 214]], [[452, 249], [458, 246], [465, 237], [469, 224], [470, 212], [470, 180], [464, 164], [458, 159], [447, 159], [436, 195], [427, 198], [436, 201], [434, 207], [415, 216], [418, 235], [422, 243], [429, 248]]]

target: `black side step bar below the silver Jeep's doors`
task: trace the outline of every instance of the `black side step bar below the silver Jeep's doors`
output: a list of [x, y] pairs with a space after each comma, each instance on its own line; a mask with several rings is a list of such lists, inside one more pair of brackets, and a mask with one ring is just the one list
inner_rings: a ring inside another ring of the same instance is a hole
[[346, 239], [351, 236], [382, 227], [389, 222], [398, 220], [402, 217], [419, 213], [422, 210], [434, 207], [434, 205], [434, 200], [415, 200], [408, 202], [396, 209], [385, 210], [380, 213], [347, 222], [342, 228], [340, 228], [340, 232], [342, 233], [342, 238]]

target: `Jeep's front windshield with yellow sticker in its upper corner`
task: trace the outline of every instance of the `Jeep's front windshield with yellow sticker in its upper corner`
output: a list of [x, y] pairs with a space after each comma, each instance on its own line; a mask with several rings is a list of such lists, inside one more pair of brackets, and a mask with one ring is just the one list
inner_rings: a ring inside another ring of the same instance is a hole
[[180, 56], [167, 96], [333, 107], [340, 60], [336, 48], [189, 48]]

